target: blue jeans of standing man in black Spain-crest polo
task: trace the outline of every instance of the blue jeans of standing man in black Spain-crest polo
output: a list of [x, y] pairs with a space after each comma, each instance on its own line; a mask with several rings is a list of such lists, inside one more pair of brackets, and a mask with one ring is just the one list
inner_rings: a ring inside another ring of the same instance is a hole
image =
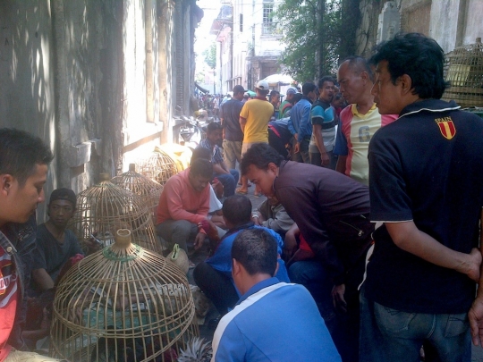
[[470, 362], [468, 314], [409, 313], [384, 307], [360, 292], [360, 362], [419, 362], [430, 344], [441, 362]]

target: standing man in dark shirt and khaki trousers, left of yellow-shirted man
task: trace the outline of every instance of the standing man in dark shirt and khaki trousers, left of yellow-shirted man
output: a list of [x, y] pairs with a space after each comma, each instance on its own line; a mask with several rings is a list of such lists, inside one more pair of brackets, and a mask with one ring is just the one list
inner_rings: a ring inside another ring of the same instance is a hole
[[244, 93], [245, 89], [242, 86], [234, 86], [232, 99], [226, 101], [220, 109], [223, 149], [228, 169], [234, 169], [236, 161], [242, 162], [243, 132], [240, 128], [240, 112], [242, 112]]

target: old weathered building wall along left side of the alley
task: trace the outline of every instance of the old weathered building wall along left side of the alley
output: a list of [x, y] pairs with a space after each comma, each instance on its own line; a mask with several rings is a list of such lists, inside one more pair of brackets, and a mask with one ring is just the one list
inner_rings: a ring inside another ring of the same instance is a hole
[[172, 139], [201, 17], [194, 0], [0, 2], [0, 125], [51, 145], [47, 195], [86, 189]]

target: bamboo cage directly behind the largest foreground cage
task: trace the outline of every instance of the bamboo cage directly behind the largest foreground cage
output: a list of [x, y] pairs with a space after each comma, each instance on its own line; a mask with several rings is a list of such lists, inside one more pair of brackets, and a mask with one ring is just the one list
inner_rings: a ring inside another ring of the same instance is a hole
[[101, 182], [77, 195], [75, 214], [68, 224], [85, 246], [95, 236], [103, 247], [114, 242], [114, 232], [129, 229], [132, 241], [142, 248], [162, 253], [148, 206], [129, 189], [114, 185], [107, 173]]

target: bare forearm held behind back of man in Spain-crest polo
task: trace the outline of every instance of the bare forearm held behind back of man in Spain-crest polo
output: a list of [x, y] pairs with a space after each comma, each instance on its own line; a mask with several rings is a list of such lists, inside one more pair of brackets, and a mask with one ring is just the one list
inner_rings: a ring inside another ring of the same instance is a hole
[[479, 281], [481, 253], [477, 248], [473, 248], [470, 254], [447, 248], [426, 232], [421, 232], [412, 221], [386, 223], [386, 228], [398, 248], [431, 264], [466, 274], [475, 282]]

